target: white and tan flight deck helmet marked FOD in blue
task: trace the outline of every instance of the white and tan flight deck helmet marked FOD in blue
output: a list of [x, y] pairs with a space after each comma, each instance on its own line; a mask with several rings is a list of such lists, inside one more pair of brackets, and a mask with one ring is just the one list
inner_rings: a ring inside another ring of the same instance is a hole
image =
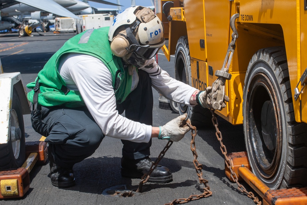
[[132, 6], [113, 20], [108, 34], [112, 53], [123, 57], [135, 53], [150, 59], [164, 45], [163, 26], [154, 12], [143, 6]]

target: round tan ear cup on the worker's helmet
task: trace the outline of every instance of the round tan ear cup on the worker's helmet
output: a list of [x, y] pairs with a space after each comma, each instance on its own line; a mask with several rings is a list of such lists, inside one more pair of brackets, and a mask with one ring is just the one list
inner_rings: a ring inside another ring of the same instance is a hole
[[123, 57], [128, 54], [128, 50], [126, 48], [129, 46], [130, 44], [128, 40], [121, 35], [115, 36], [111, 41], [111, 51], [117, 57]]

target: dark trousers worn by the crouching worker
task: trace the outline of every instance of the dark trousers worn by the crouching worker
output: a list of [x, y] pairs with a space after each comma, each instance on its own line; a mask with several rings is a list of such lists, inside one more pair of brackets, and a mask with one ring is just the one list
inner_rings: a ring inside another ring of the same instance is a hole
[[[126, 100], [117, 104], [119, 114], [125, 111], [128, 119], [152, 125], [153, 93], [149, 75], [139, 70], [139, 82]], [[55, 163], [72, 168], [75, 163], [91, 156], [102, 142], [104, 135], [86, 107], [41, 107], [41, 112], [31, 114], [32, 126], [46, 136], [45, 142]], [[141, 159], [150, 155], [149, 143], [122, 140], [123, 157]]]

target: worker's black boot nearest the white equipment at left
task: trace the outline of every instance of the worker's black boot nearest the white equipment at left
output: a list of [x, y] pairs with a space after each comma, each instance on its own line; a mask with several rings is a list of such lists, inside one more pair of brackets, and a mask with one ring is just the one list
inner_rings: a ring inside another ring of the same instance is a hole
[[48, 160], [52, 185], [59, 188], [71, 187], [76, 185], [72, 169], [67, 169], [56, 165], [53, 159], [51, 149], [48, 149]]

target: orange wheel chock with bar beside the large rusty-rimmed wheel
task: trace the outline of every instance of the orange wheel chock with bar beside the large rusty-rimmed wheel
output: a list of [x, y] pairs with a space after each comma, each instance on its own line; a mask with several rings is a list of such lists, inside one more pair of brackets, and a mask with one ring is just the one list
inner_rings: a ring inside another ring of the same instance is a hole
[[262, 197], [263, 205], [303, 205], [307, 204], [307, 187], [294, 187], [289, 189], [270, 189], [252, 172], [248, 163], [247, 152], [234, 152], [227, 154], [231, 161], [231, 170], [225, 166], [226, 176], [233, 182], [231, 171], [238, 176], [239, 181], [245, 181], [257, 194]]

